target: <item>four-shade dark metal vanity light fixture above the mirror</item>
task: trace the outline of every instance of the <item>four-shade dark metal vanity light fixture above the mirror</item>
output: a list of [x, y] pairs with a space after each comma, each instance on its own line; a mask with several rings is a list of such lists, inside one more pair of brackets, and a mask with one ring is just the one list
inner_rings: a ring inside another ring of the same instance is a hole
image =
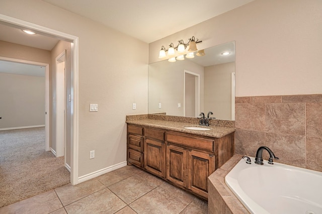
[[[202, 41], [198, 41], [199, 39], [195, 39], [195, 37], [191, 37], [187, 43], [184, 43], [183, 40], [178, 41], [178, 45], [174, 47], [174, 44], [171, 43], [169, 45], [169, 49], [167, 49], [165, 46], [161, 47], [161, 50], [159, 52], [159, 59], [166, 59], [169, 58], [169, 62], [175, 62], [177, 56], [177, 60], [184, 60], [184, 55], [186, 54], [186, 58], [191, 59], [194, 58], [194, 51], [197, 51], [197, 43], [200, 43]], [[186, 48], [188, 50], [186, 50]], [[168, 54], [166, 53], [168, 52]]]

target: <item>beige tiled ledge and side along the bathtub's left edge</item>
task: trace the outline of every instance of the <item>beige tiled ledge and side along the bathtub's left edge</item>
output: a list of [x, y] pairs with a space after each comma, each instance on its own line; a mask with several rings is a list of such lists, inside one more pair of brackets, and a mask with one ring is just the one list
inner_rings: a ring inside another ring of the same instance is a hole
[[238, 163], [241, 155], [235, 154], [208, 177], [208, 213], [250, 213], [225, 184], [225, 176]]

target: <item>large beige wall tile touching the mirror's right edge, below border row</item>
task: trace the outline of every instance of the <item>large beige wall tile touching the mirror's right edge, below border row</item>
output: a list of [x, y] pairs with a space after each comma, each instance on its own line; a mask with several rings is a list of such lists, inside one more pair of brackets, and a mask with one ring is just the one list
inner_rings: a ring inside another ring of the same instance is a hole
[[235, 127], [247, 130], [265, 130], [264, 103], [236, 103]]

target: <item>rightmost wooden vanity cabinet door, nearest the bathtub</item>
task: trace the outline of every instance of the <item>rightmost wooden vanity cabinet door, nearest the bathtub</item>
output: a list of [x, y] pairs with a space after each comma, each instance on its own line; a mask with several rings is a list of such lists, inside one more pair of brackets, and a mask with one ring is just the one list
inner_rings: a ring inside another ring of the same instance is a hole
[[208, 198], [208, 176], [215, 170], [215, 158], [197, 151], [188, 151], [188, 189]]

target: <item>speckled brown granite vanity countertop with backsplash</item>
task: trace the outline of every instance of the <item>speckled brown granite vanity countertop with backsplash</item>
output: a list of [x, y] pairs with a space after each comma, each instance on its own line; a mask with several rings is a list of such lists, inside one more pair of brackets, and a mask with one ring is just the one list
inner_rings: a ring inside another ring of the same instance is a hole
[[[188, 129], [185, 129], [184, 127], [198, 126], [199, 120], [197, 119], [197, 123], [196, 123], [195, 121], [193, 121], [196, 118], [160, 116], [160, 115], [156, 115], [157, 117], [155, 117], [155, 115], [152, 115], [152, 118], [156, 118], [156, 119], [149, 119], [149, 116], [150, 115], [148, 115], [148, 119], [144, 119], [146, 117], [145, 115], [127, 116], [126, 123], [132, 124], [132, 125], [151, 127], [151, 128], [190, 133], [190, 134], [213, 137], [213, 138], [221, 138], [235, 131], [235, 129], [232, 127], [223, 127], [223, 126], [209, 126], [209, 127], [206, 127], [206, 128], [210, 128], [210, 130], [207, 130], [207, 131], [188, 130]], [[133, 118], [138, 118], [138, 119], [133, 120]], [[162, 119], [165, 119], [165, 120], [162, 120]], [[195, 123], [189, 123], [190, 120]]]

